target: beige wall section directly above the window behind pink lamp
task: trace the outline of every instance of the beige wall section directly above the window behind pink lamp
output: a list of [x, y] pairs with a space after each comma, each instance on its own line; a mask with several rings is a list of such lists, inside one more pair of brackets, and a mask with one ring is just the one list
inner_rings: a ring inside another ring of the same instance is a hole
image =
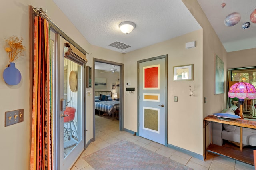
[[228, 53], [227, 68], [252, 67], [256, 65], [256, 48]]

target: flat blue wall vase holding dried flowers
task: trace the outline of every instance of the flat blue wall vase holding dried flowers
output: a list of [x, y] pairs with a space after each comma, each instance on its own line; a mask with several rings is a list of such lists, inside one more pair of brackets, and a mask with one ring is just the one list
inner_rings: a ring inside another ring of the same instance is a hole
[[4, 70], [3, 73], [4, 81], [8, 85], [17, 85], [20, 83], [21, 74], [18, 69], [15, 67], [15, 63], [10, 63], [8, 67]]

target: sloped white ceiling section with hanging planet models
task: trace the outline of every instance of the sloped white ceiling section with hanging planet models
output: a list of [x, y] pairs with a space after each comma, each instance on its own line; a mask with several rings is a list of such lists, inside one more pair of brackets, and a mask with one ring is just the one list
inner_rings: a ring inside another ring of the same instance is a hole
[[[256, 0], [197, 1], [227, 52], [256, 47], [256, 24], [250, 22], [250, 14], [256, 8]], [[224, 8], [220, 6], [223, 2], [226, 3]], [[226, 26], [224, 20], [233, 12], [240, 13], [241, 20], [234, 26]], [[250, 22], [250, 27], [242, 29], [244, 22]]]

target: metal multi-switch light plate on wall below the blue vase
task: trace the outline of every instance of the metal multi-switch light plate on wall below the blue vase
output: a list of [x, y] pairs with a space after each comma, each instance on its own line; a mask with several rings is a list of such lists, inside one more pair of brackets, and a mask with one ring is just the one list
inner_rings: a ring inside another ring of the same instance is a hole
[[15, 123], [23, 122], [24, 117], [24, 109], [19, 109], [15, 111], [7, 111], [5, 112], [5, 125], [9, 126]]

